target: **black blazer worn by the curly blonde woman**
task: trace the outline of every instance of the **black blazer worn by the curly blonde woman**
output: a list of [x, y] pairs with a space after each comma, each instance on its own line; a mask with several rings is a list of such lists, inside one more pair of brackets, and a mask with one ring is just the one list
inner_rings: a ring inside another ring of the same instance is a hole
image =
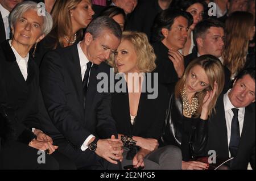
[[[146, 80], [147, 76], [144, 81]], [[112, 115], [117, 122], [118, 133], [159, 140], [163, 131], [169, 95], [166, 87], [160, 84], [156, 86], [158, 86], [156, 99], [148, 99], [148, 95], [152, 93], [147, 90], [141, 93], [134, 125], [131, 125], [128, 92], [113, 93]]]

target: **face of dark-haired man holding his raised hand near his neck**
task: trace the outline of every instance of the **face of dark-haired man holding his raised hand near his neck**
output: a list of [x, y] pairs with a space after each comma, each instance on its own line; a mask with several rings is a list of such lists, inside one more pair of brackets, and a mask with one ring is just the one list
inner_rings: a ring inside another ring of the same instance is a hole
[[171, 30], [162, 29], [164, 35], [163, 43], [175, 50], [183, 49], [188, 37], [188, 20], [183, 16], [175, 18]]

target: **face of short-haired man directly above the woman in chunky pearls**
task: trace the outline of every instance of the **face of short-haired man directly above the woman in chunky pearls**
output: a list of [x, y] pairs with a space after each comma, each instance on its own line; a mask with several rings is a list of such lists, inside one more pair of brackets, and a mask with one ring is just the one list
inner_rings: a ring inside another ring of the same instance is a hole
[[197, 47], [200, 55], [212, 54], [221, 57], [224, 49], [224, 30], [221, 27], [210, 27], [205, 37], [197, 38]]

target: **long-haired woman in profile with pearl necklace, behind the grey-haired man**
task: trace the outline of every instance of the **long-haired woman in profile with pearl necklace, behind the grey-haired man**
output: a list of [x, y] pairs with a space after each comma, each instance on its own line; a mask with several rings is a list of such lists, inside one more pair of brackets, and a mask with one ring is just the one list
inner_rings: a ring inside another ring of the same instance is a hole
[[93, 14], [90, 0], [56, 1], [52, 9], [52, 31], [35, 47], [35, 62], [40, 66], [44, 54], [49, 50], [79, 42], [83, 36], [83, 28], [92, 21]]

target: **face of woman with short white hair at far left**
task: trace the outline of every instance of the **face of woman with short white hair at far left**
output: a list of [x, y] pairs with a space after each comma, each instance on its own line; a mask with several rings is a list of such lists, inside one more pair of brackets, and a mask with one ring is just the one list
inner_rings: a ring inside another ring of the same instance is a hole
[[16, 20], [13, 30], [13, 43], [31, 46], [43, 39], [43, 17], [35, 10], [27, 10]]

